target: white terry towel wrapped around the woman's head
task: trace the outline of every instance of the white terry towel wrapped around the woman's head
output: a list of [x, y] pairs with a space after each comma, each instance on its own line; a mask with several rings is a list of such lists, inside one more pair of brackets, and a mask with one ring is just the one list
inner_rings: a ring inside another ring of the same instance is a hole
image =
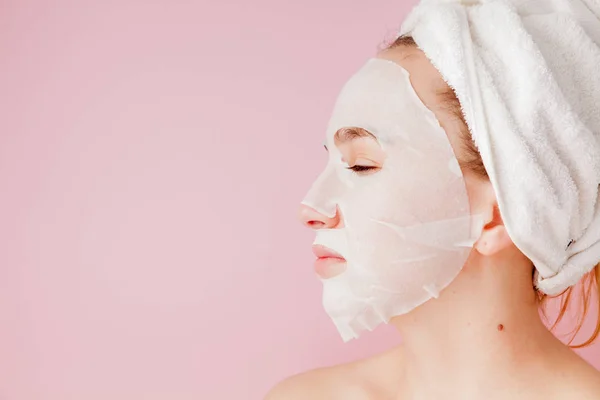
[[600, 0], [422, 0], [399, 33], [456, 91], [536, 286], [576, 284], [600, 262]]

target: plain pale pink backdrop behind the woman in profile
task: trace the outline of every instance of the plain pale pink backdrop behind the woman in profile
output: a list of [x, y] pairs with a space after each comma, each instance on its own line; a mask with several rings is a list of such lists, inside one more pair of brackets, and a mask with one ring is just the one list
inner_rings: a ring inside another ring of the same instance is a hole
[[397, 343], [341, 342], [296, 209], [412, 4], [1, 2], [0, 399], [260, 399]]

